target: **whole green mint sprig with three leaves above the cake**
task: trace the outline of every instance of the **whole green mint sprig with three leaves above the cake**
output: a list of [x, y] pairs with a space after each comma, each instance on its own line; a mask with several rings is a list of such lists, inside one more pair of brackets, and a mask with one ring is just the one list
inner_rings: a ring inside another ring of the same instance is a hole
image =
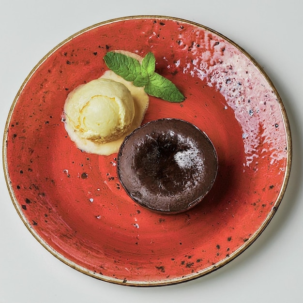
[[185, 97], [170, 80], [155, 72], [156, 60], [152, 52], [146, 54], [142, 63], [118, 52], [108, 52], [104, 61], [109, 69], [137, 87], [143, 87], [151, 96], [169, 102], [182, 102]]

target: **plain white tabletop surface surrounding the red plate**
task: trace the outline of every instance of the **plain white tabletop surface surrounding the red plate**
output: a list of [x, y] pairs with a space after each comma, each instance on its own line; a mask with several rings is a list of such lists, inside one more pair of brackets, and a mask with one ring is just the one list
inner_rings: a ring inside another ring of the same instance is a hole
[[53, 257], [19, 218], [1, 170], [0, 303], [303, 302], [302, 11], [301, 0], [0, 0], [1, 136], [23, 80], [62, 40], [111, 18], [167, 15], [210, 27], [250, 53], [279, 91], [293, 139], [286, 194], [258, 240], [216, 272], [167, 287], [106, 283]]

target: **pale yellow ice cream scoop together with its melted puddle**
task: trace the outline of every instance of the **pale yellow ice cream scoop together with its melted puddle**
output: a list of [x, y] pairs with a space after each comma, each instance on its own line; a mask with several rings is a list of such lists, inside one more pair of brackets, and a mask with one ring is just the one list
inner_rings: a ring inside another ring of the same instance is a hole
[[107, 71], [68, 94], [63, 121], [79, 149], [109, 155], [141, 124], [148, 104], [142, 87]]

